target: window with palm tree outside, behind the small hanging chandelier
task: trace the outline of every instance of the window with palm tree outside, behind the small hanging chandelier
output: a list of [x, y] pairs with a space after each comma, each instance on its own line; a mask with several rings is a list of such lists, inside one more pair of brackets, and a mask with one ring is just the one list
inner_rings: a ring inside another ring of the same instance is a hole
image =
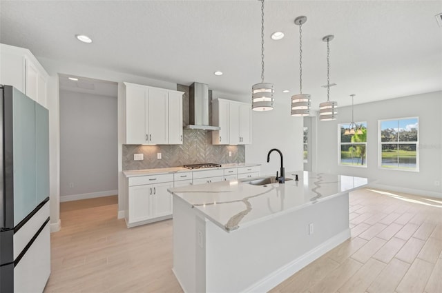
[[[339, 124], [339, 165], [367, 167], [367, 122], [356, 123], [355, 134], [345, 134], [350, 123]], [[360, 130], [360, 131], [358, 131]]]

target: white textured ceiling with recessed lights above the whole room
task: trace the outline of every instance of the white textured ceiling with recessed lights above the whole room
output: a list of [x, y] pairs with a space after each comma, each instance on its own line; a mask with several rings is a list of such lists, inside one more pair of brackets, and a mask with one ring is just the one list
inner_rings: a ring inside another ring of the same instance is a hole
[[[260, 2], [243, 1], [1, 1], [0, 41], [37, 57], [250, 95], [260, 83]], [[442, 90], [442, 1], [266, 1], [265, 81], [277, 103], [302, 88], [314, 109]], [[285, 38], [270, 39], [282, 30]], [[80, 43], [87, 34], [93, 43]], [[216, 77], [213, 72], [224, 74]], [[68, 73], [68, 72], [65, 72]], [[289, 89], [291, 92], [282, 93]]]

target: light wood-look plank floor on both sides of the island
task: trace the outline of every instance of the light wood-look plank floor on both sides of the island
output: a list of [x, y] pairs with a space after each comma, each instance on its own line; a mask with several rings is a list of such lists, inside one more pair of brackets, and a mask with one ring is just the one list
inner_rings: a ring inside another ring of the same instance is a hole
[[[61, 203], [45, 292], [182, 292], [172, 268], [172, 220], [126, 228], [117, 198]], [[352, 238], [271, 290], [442, 292], [442, 200], [350, 194]]]

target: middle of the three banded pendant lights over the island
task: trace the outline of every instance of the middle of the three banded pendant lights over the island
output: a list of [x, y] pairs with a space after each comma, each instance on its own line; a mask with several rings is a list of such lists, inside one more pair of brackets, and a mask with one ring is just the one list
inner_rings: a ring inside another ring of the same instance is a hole
[[302, 24], [307, 21], [307, 17], [296, 17], [295, 24], [299, 26], [299, 94], [291, 96], [291, 116], [309, 116], [310, 95], [302, 94]]

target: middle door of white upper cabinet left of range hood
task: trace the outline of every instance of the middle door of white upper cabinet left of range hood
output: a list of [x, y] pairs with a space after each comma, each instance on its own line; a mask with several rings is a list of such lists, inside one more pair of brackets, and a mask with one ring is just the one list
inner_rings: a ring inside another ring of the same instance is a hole
[[165, 145], [169, 143], [169, 105], [167, 90], [148, 89], [146, 129], [151, 144]]

